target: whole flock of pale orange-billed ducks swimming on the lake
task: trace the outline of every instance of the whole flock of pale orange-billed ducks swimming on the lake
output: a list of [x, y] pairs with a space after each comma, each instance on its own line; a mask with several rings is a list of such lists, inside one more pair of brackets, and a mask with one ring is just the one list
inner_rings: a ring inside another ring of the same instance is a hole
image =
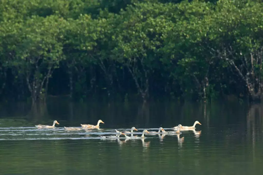
[[[102, 120], [98, 120], [98, 123], [97, 125], [90, 125], [90, 124], [80, 124], [81, 127], [64, 127], [65, 130], [69, 130], [69, 131], [79, 131], [79, 130], [90, 130], [90, 129], [98, 129], [100, 126], [99, 124], [100, 123], [104, 123]], [[55, 124], [58, 124], [59, 123], [57, 122], [57, 120], [55, 120], [53, 122], [53, 125], [52, 126], [49, 126], [49, 125], [35, 125], [37, 128], [41, 129], [41, 128], [55, 128]], [[119, 138], [121, 135], [124, 135], [126, 138], [131, 138], [131, 137], [136, 137], [136, 138], [144, 138], [144, 134], [176, 134], [176, 135], [180, 135], [181, 132], [180, 131], [187, 131], [187, 130], [194, 130], [195, 129], [195, 125], [196, 124], [199, 124], [201, 125], [201, 123], [199, 121], [195, 121], [194, 122], [194, 125], [193, 126], [182, 126], [181, 124], [179, 124], [178, 126], [175, 126], [173, 128], [170, 128], [172, 130], [175, 130], [175, 131], [165, 131], [162, 127], [159, 128], [158, 131], [147, 131], [147, 130], [143, 130], [142, 134], [140, 137], [138, 136], [133, 136], [133, 134], [135, 132], [133, 132], [134, 130], [135, 131], [138, 131], [135, 127], [132, 127], [131, 128], [131, 131], [118, 131], [118, 130], [115, 130], [116, 131], [116, 135], [110, 135], [110, 136], [100, 136], [101, 138]], [[131, 135], [131, 137], [127, 136], [127, 134]]]

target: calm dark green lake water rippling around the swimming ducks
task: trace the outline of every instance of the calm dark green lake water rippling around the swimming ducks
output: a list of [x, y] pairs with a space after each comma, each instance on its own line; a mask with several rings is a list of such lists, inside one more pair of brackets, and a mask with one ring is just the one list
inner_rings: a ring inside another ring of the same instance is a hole
[[[230, 102], [72, 104], [49, 101], [41, 114], [25, 104], [0, 107], [0, 174], [261, 174], [263, 106]], [[262, 108], [262, 110], [261, 110]], [[38, 110], [41, 111], [41, 110]], [[44, 112], [43, 112], [44, 111]], [[97, 124], [100, 129], [65, 131]], [[36, 124], [60, 124], [37, 129]], [[182, 124], [195, 130], [145, 139], [102, 139], [135, 126], [157, 131]]]

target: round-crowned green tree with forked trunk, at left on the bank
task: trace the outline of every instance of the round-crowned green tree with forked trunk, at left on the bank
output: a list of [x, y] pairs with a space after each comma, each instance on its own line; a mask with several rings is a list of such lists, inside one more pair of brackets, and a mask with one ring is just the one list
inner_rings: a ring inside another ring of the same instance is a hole
[[33, 16], [16, 33], [19, 41], [12, 48], [9, 65], [25, 76], [33, 104], [47, 91], [48, 79], [63, 59], [62, 43], [59, 40], [64, 37], [60, 30], [64, 24], [65, 21], [56, 16]]

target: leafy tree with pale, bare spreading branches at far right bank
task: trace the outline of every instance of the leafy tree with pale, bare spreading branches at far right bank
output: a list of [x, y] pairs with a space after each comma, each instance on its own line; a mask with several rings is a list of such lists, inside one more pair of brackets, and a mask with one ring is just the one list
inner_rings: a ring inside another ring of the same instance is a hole
[[[208, 16], [204, 34], [214, 40], [209, 51], [224, 60], [246, 84], [253, 100], [261, 98], [262, 79], [262, 3], [219, 1], [216, 13]], [[240, 83], [239, 83], [240, 84]]]

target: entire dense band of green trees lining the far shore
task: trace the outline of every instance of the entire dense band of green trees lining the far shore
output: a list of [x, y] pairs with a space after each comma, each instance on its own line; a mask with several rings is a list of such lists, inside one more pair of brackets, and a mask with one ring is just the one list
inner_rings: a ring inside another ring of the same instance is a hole
[[0, 98], [260, 101], [263, 3], [2, 0]]

